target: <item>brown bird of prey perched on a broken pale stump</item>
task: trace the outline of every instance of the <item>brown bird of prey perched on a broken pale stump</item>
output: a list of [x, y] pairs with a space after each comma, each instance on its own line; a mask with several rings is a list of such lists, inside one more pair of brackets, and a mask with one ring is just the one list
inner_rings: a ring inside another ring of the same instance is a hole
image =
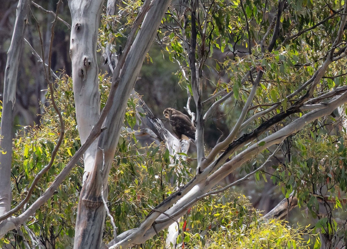
[[164, 116], [169, 119], [172, 131], [178, 136], [178, 139], [195, 140], [195, 127], [191, 119], [174, 108], [166, 108]]

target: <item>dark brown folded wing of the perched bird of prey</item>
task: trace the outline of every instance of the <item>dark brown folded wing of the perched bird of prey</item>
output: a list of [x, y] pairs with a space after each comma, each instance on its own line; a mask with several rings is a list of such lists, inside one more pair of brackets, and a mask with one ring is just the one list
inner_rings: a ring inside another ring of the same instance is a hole
[[192, 125], [187, 115], [179, 112], [170, 116], [170, 126], [179, 139], [184, 139], [182, 135], [195, 140], [195, 127]]

